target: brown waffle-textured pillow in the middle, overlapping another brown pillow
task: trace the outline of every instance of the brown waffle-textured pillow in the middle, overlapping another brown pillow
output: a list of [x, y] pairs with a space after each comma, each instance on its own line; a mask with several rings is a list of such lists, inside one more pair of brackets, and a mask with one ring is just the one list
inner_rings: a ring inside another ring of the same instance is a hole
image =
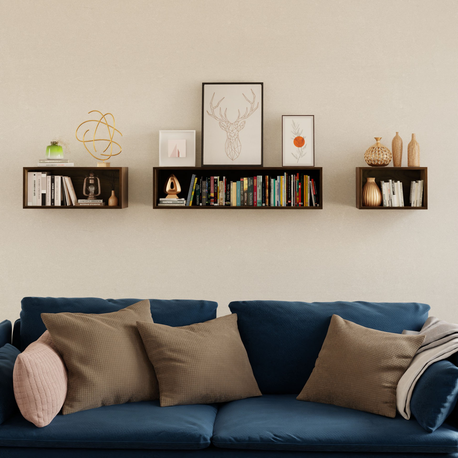
[[237, 315], [183, 327], [137, 326], [158, 376], [161, 407], [261, 396]]

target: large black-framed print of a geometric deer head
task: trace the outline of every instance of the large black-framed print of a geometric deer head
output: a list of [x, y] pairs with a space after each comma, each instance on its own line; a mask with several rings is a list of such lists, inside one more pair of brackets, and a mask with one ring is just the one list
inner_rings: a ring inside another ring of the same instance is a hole
[[262, 83], [202, 83], [202, 165], [262, 166]]

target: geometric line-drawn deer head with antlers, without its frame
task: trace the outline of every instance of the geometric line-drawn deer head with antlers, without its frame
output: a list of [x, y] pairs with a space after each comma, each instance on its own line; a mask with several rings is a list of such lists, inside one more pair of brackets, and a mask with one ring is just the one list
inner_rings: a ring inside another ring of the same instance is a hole
[[226, 131], [227, 139], [226, 144], [224, 146], [224, 151], [226, 152], [228, 158], [230, 158], [232, 161], [240, 156], [240, 152], [242, 150], [239, 132], [245, 127], [245, 120], [248, 119], [251, 116], [251, 114], [253, 114], [259, 107], [259, 102], [256, 105], [256, 107], [254, 106], [256, 101], [256, 95], [253, 92], [253, 89], [251, 89], [251, 94], [253, 95], [253, 100], [250, 102], [246, 95], [242, 93], [243, 97], [245, 97], [245, 100], [251, 105], [250, 111], [248, 111], [247, 107], [243, 116], [240, 117], [240, 110], [238, 110], [239, 115], [237, 116], [237, 119], [234, 122], [230, 122], [228, 120], [226, 115], [227, 108], [224, 110], [224, 114], [221, 113], [221, 108], [219, 109], [219, 116], [215, 114], [215, 109], [217, 109], [219, 107], [219, 104], [224, 100], [223, 97], [215, 106], [213, 106], [213, 97], [215, 97], [215, 93], [213, 93], [212, 100], [210, 101], [210, 110], [212, 111], [212, 113], [208, 113], [207, 111], [207, 114], [209, 114], [212, 118], [219, 121], [219, 127], [221, 127], [223, 131]]

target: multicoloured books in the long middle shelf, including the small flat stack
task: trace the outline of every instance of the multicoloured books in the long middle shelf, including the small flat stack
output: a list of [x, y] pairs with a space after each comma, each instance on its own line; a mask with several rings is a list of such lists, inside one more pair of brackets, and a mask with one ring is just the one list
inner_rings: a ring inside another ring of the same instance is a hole
[[[193, 174], [186, 202], [171, 205], [318, 207], [318, 199], [316, 180], [305, 174], [256, 175], [236, 181], [225, 176], [199, 178]], [[160, 199], [159, 205], [165, 205], [164, 201]]]

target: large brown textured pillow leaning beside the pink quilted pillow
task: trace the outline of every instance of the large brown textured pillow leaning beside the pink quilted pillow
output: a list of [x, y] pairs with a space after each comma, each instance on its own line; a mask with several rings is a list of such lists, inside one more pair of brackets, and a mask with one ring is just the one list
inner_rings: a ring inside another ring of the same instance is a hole
[[68, 370], [62, 413], [158, 399], [138, 320], [153, 323], [149, 300], [112, 313], [42, 313]]

